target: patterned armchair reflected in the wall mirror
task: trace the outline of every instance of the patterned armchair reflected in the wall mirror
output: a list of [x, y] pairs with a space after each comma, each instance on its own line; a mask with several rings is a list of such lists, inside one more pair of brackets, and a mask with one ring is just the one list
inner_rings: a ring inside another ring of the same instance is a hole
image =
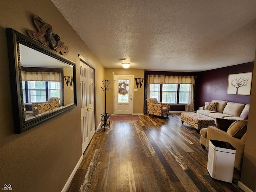
[[33, 115], [38, 115], [50, 110], [54, 110], [59, 107], [60, 98], [50, 97], [48, 102], [32, 103]]

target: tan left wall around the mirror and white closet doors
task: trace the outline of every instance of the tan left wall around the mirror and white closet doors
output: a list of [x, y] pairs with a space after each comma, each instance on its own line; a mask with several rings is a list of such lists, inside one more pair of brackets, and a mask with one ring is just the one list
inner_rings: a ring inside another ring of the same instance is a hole
[[0, 188], [11, 184], [14, 192], [60, 192], [82, 155], [80, 128], [80, 90], [78, 107], [44, 122], [22, 134], [14, 134], [6, 27], [25, 34], [36, 30], [36, 14], [53, 27], [69, 48], [68, 59], [76, 63], [79, 85], [81, 54], [96, 68], [96, 127], [103, 113], [104, 94], [99, 85], [104, 67], [82, 42], [51, 0], [1, 1], [0, 6]]

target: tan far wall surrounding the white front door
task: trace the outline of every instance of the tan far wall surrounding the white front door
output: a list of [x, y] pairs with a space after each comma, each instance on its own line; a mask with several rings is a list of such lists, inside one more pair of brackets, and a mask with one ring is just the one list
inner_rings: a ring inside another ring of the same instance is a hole
[[[114, 113], [114, 75], [134, 75], [134, 78], [144, 78], [144, 69], [114, 69], [107, 68], [105, 69], [105, 77], [107, 80], [110, 80], [109, 85], [110, 90], [107, 92], [107, 113]], [[134, 88], [137, 88], [136, 82], [134, 79]], [[138, 86], [138, 91], [134, 92], [134, 103], [133, 103], [133, 113], [134, 114], [143, 114], [143, 102], [144, 102], [144, 81], [140, 88]]]

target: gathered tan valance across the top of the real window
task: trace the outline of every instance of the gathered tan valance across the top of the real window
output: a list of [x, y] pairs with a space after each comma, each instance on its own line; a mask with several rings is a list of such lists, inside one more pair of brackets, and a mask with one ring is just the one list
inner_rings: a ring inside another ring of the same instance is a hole
[[195, 84], [194, 76], [149, 75], [148, 84]]

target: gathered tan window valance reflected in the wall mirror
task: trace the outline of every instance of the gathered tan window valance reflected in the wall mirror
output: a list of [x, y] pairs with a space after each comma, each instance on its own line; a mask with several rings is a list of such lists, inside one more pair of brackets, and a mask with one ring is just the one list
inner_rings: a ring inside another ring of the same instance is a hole
[[23, 81], [58, 81], [62, 80], [61, 73], [56, 72], [27, 72], [22, 71]]

